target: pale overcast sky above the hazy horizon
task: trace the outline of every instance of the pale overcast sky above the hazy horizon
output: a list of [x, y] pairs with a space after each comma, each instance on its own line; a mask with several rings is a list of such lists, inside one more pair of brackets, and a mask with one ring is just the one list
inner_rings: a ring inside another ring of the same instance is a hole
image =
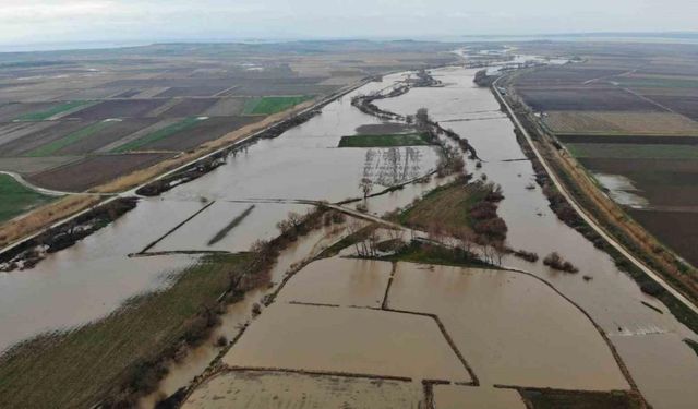
[[698, 0], [0, 0], [0, 45], [698, 31]]

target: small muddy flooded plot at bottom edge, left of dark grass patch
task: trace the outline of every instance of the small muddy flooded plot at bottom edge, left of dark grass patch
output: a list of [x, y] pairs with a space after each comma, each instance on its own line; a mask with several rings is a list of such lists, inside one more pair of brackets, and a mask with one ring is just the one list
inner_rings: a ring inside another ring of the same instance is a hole
[[526, 404], [516, 390], [460, 385], [434, 385], [434, 404], [437, 409], [526, 408]]

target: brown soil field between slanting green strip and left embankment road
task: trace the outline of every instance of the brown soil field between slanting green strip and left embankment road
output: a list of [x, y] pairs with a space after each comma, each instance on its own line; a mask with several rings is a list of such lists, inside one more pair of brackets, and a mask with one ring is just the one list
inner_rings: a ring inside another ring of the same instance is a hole
[[214, 117], [198, 122], [194, 128], [176, 132], [165, 139], [145, 145], [141, 151], [168, 149], [188, 151], [204, 142], [218, 139], [252, 122], [260, 117]]

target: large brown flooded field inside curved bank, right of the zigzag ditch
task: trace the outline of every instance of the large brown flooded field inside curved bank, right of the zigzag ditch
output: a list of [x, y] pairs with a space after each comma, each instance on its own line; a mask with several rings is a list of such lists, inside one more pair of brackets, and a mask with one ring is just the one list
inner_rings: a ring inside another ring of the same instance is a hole
[[398, 263], [388, 308], [437, 315], [483, 385], [629, 388], [593, 324], [535, 277]]

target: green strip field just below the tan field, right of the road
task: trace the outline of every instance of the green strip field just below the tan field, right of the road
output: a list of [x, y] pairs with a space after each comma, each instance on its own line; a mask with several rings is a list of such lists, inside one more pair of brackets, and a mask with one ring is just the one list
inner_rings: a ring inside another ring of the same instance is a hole
[[577, 158], [698, 159], [698, 146], [673, 144], [566, 143]]

